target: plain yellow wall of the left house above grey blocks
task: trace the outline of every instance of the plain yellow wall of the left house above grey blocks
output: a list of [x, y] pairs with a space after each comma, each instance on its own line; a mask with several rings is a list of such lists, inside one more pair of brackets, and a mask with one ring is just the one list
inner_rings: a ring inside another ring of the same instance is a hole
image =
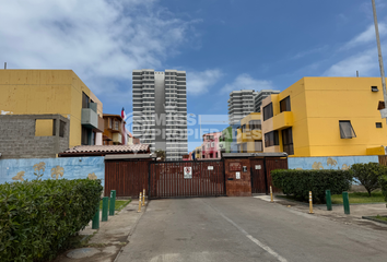
[[70, 118], [70, 147], [81, 144], [82, 92], [97, 103], [102, 117], [103, 104], [72, 70], [0, 70], [0, 110]]

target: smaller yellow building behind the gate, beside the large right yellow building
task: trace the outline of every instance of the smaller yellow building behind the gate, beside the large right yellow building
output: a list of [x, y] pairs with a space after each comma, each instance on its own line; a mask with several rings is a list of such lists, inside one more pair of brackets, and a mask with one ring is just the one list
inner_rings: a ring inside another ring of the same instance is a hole
[[251, 112], [241, 120], [241, 129], [237, 129], [236, 143], [241, 153], [263, 151], [260, 112]]

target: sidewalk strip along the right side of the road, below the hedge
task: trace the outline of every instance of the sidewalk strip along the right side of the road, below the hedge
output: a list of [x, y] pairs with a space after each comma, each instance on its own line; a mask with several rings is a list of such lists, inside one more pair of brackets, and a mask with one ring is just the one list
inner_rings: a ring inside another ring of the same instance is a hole
[[[262, 195], [255, 195], [254, 198], [270, 202], [270, 195], [262, 194]], [[305, 214], [309, 213], [309, 204], [307, 204], [307, 203], [292, 201], [292, 200], [279, 198], [275, 195], [274, 195], [274, 202], [275, 202], [275, 204], [281, 204], [283, 206], [286, 206], [289, 209], [292, 209], [292, 210], [295, 210], [295, 211], [298, 211], [298, 212], [302, 212]], [[351, 204], [350, 205], [350, 212], [351, 212], [350, 215], [344, 214], [343, 205], [332, 205], [332, 211], [327, 211], [326, 205], [319, 204], [319, 205], [314, 205], [313, 211], [314, 211], [314, 214], [310, 214], [310, 215], [322, 216], [322, 217], [326, 217], [330, 221], [340, 222], [345, 225], [354, 224], [354, 225], [365, 226], [365, 227], [376, 229], [376, 230], [387, 230], [387, 225], [385, 225], [385, 224], [362, 218], [362, 216], [376, 216], [376, 215], [387, 216], [386, 203]]]

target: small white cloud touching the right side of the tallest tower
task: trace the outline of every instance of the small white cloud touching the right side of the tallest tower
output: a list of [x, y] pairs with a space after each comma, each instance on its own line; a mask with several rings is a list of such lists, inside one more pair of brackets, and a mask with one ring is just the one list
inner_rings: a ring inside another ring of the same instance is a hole
[[192, 95], [201, 95], [209, 91], [223, 75], [219, 69], [203, 72], [187, 72], [187, 92]]

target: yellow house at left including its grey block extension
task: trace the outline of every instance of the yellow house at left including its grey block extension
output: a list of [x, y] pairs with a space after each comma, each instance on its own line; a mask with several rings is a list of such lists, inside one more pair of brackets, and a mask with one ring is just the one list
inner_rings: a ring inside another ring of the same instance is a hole
[[102, 144], [103, 104], [72, 70], [0, 70], [0, 93], [3, 158]]

